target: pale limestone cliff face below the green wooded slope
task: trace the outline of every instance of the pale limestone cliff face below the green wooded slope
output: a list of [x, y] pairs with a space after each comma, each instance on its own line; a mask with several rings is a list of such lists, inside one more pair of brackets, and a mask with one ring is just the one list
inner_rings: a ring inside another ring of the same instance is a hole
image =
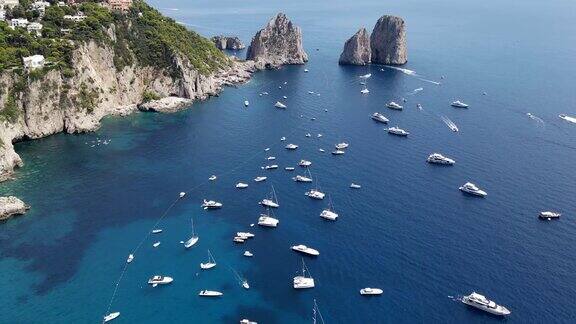
[[216, 95], [223, 86], [246, 81], [254, 71], [253, 62], [232, 61], [211, 75], [198, 73], [185, 58], [174, 57], [179, 77], [173, 79], [163, 69], [125, 67], [117, 71], [114, 50], [87, 43], [74, 53], [73, 77], [52, 70], [38, 80], [12, 73], [0, 74], [0, 111], [7, 109], [16, 83], [25, 91], [16, 94], [16, 115], [0, 118], [0, 181], [6, 180], [22, 160], [12, 143], [23, 138], [41, 138], [58, 132], [96, 130], [107, 115], [126, 115], [137, 111], [145, 92], [160, 97], [178, 96], [190, 101]]

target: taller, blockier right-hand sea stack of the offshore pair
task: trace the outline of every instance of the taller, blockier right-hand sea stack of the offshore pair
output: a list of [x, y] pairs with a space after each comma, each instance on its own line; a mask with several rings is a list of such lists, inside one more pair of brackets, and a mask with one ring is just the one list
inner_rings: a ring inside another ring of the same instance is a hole
[[370, 36], [372, 63], [402, 65], [408, 61], [404, 19], [384, 15]]

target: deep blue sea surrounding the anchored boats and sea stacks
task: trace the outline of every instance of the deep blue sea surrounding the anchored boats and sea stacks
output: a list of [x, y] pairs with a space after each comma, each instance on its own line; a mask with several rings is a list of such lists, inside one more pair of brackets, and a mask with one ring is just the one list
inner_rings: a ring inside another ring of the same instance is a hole
[[[237, 34], [246, 43], [269, 17], [285, 11], [303, 29], [310, 62], [257, 73], [250, 83], [180, 113], [108, 118], [96, 133], [19, 143], [26, 165], [17, 180], [0, 185], [0, 194], [17, 195], [33, 208], [0, 224], [0, 322], [99, 321], [127, 254], [180, 191], [188, 196], [159, 225], [164, 233], [144, 241], [121, 281], [112, 305], [122, 312], [118, 323], [245, 317], [306, 323], [313, 299], [328, 323], [502, 321], [449, 297], [473, 290], [506, 305], [509, 322], [574, 321], [576, 125], [557, 115], [576, 115], [576, 3], [151, 3], [205, 36]], [[386, 13], [406, 19], [405, 68], [418, 76], [338, 66], [345, 39]], [[371, 92], [364, 96], [358, 76], [366, 73], [372, 73]], [[413, 93], [417, 88], [423, 90]], [[263, 91], [270, 95], [258, 96]], [[284, 95], [288, 109], [273, 108]], [[401, 98], [407, 99], [404, 111], [384, 107]], [[451, 108], [455, 99], [471, 108]], [[409, 130], [409, 138], [386, 134], [370, 120], [374, 111]], [[440, 116], [460, 132], [450, 132]], [[314, 136], [306, 138], [308, 132]], [[317, 139], [317, 133], [324, 136]], [[284, 150], [282, 136], [300, 148]], [[98, 138], [111, 142], [91, 147]], [[351, 144], [347, 154], [330, 155], [343, 140]], [[436, 151], [457, 164], [426, 164]], [[260, 170], [269, 155], [280, 170]], [[305, 197], [310, 186], [294, 183], [283, 170], [301, 158], [313, 162], [313, 176], [340, 214], [337, 222], [318, 217], [327, 202]], [[211, 174], [219, 176], [216, 182], [208, 182]], [[267, 182], [252, 181], [263, 174]], [[238, 181], [250, 187], [238, 191]], [[489, 196], [462, 195], [457, 188], [466, 181]], [[350, 190], [351, 182], [363, 188]], [[250, 228], [270, 184], [281, 204], [280, 225]], [[224, 208], [203, 211], [203, 198]], [[538, 212], [549, 209], [563, 212], [562, 219], [539, 221]], [[184, 251], [179, 241], [189, 235], [191, 216], [200, 241]], [[235, 246], [232, 235], [240, 230], [256, 238]], [[156, 240], [162, 244], [154, 249]], [[289, 250], [295, 243], [321, 253], [306, 258], [316, 280], [309, 291], [291, 287], [300, 268], [300, 256]], [[219, 264], [200, 272], [207, 249]], [[242, 256], [246, 249], [254, 258]], [[238, 285], [229, 267], [248, 278], [250, 290]], [[175, 282], [147, 287], [155, 273]], [[384, 295], [362, 298], [358, 290], [366, 286], [381, 287]], [[200, 299], [201, 289], [225, 295]]]

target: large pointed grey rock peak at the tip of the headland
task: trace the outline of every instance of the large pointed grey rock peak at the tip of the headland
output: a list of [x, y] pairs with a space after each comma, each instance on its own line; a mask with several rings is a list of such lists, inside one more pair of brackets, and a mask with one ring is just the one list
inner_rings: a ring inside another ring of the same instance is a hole
[[300, 27], [279, 13], [252, 38], [246, 59], [254, 60], [260, 69], [308, 62]]

